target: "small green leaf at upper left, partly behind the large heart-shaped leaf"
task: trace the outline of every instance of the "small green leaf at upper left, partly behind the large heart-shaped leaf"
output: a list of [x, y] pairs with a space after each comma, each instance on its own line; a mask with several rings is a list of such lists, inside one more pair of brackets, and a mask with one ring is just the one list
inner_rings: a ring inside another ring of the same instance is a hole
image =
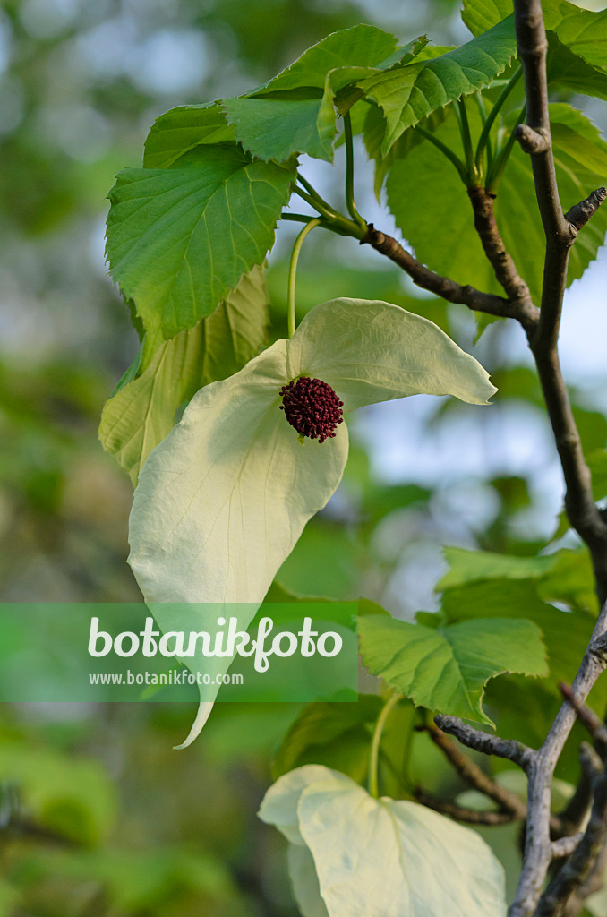
[[235, 139], [234, 127], [215, 102], [180, 105], [156, 118], [145, 145], [146, 169], [168, 169], [175, 160], [201, 143], [227, 143]]

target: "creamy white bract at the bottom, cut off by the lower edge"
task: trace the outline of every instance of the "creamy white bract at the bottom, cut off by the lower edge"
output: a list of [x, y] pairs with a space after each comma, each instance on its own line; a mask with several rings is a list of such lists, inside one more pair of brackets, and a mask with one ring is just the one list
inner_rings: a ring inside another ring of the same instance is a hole
[[289, 843], [303, 917], [503, 917], [503, 869], [479, 834], [410, 801], [373, 799], [309, 764], [270, 787], [259, 818]]

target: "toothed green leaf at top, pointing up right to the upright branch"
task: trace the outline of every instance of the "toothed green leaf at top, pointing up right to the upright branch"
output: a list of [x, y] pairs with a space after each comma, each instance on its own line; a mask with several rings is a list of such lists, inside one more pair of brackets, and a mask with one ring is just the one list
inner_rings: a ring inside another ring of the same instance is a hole
[[[515, 54], [512, 23], [506, 21], [441, 57], [359, 81], [360, 93], [379, 105], [386, 118], [382, 154], [387, 154], [407, 127], [454, 99], [488, 86]], [[338, 98], [340, 110], [351, 99], [356, 99], [356, 94]]]

